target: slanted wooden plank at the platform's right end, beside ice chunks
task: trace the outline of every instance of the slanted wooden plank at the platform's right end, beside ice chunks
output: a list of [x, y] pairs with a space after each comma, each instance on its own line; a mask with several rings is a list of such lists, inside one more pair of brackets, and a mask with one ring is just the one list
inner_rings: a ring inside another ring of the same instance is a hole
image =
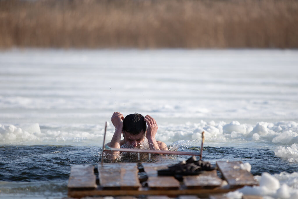
[[253, 186], [258, 185], [257, 181], [254, 180], [253, 175], [240, 169], [241, 161], [217, 161], [216, 165], [222, 173], [223, 177], [231, 187], [242, 187], [245, 185]]

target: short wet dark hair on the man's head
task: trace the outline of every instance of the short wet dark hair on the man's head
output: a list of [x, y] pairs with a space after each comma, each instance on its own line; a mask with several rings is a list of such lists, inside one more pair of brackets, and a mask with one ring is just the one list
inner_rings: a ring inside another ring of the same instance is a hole
[[146, 132], [146, 121], [143, 115], [133, 113], [126, 115], [123, 120], [123, 132], [126, 131], [131, 135], [138, 135]]

